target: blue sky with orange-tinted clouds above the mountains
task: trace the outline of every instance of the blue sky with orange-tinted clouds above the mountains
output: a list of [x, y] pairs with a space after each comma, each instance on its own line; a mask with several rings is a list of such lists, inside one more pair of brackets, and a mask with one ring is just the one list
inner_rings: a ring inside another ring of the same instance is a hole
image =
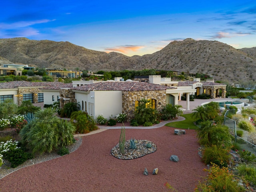
[[174, 40], [256, 46], [255, 0], [5, 0], [0, 38], [68, 41], [88, 49], [152, 54]]

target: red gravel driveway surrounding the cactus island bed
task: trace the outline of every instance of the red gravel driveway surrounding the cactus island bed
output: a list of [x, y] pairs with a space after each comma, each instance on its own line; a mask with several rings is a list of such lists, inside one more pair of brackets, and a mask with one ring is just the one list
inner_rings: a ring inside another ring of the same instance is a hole
[[[120, 129], [83, 137], [71, 154], [22, 168], [0, 180], [1, 192], [164, 192], [168, 182], [178, 192], [192, 192], [206, 173], [198, 155], [195, 130], [174, 135], [174, 128], [126, 129], [130, 138], [150, 140], [157, 151], [133, 160], [110, 154], [118, 143]], [[170, 161], [174, 154], [180, 162]], [[144, 168], [149, 175], [143, 175]], [[152, 175], [154, 168], [158, 174]]]

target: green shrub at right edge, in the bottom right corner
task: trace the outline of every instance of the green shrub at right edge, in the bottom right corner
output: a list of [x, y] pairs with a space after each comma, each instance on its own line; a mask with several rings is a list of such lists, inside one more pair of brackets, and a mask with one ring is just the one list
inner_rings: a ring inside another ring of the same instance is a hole
[[242, 176], [251, 185], [256, 185], [256, 167], [253, 164], [239, 164], [237, 168], [238, 176]]

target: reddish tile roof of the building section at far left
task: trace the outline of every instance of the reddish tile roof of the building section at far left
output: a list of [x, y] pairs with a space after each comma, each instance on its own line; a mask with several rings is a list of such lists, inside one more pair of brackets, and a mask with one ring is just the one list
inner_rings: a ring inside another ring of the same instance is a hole
[[0, 83], [0, 89], [13, 89], [18, 87], [44, 87], [44, 86], [61, 86], [62, 82], [30, 82], [30, 81], [10, 81]]

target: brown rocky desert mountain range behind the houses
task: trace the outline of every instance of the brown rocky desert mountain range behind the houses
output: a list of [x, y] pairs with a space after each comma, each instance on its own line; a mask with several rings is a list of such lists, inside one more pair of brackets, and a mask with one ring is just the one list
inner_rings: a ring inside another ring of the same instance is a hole
[[[162, 50], [144, 56], [100, 52], [70, 42], [0, 39], [0, 57], [6, 62], [39, 68], [74, 70], [179, 70], [204, 73], [229, 82], [256, 80], [256, 48], [235, 49], [218, 41], [174, 41]], [[4, 63], [1, 61], [0, 63]]]

